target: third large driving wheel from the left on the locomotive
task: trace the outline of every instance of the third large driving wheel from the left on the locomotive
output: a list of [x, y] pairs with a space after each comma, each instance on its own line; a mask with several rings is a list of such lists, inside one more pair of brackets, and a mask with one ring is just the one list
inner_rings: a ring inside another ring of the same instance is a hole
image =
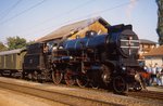
[[77, 77], [76, 82], [77, 82], [78, 87], [85, 88], [88, 85], [88, 78], [86, 75], [80, 75]]

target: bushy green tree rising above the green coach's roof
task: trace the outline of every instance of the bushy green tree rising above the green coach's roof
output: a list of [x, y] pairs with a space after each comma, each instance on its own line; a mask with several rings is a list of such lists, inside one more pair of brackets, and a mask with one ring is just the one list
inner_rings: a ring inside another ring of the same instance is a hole
[[7, 38], [8, 41], [8, 50], [14, 50], [14, 49], [22, 49], [26, 47], [26, 39], [20, 38], [20, 37], [9, 37]]

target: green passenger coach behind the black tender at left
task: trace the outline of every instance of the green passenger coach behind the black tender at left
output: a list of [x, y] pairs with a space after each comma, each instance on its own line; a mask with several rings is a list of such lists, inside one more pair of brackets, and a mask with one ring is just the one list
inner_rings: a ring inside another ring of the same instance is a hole
[[23, 71], [25, 49], [0, 52], [0, 72], [2, 75]]

